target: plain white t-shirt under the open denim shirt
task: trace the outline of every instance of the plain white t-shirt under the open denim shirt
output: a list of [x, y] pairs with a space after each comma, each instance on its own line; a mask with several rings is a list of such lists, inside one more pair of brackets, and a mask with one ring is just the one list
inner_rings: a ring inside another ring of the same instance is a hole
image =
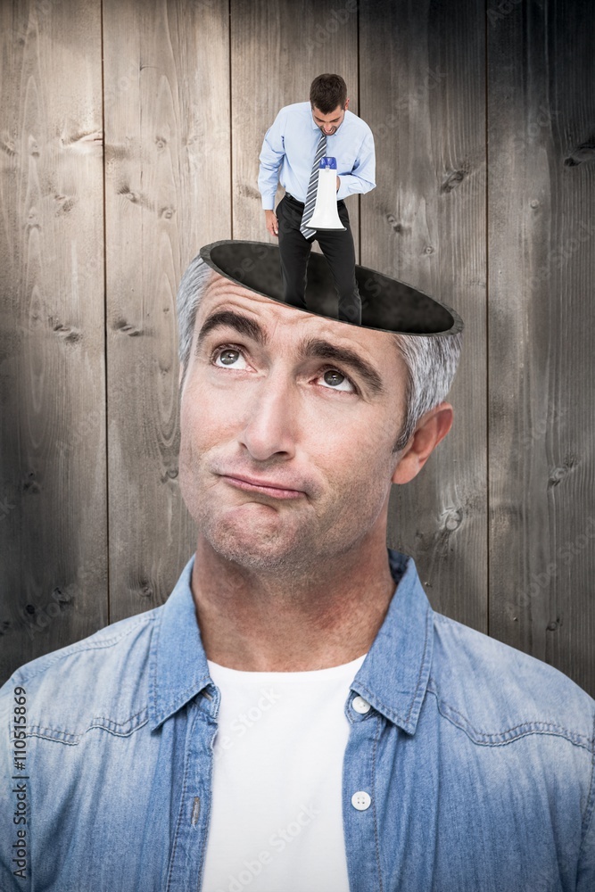
[[296, 673], [209, 662], [221, 704], [203, 892], [349, 892], [344, 710], [364, 658]]

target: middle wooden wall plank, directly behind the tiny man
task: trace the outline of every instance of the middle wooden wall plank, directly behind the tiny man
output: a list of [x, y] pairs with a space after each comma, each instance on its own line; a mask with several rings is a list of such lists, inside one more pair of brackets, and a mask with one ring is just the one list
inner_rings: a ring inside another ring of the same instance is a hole
[[[358, 17], [354, 0], [231, 0], [234, 238], [273, 241], [258, 190], [262, 140], [284, 105], [306, 102], [318, 74], [340, 74], [358, 114]], [[283, 196], [277, 191], [277, 201]], [[345, 202], [359, 259], [359, 196]], [[315, 243], [314, 250], [319, 251]]]

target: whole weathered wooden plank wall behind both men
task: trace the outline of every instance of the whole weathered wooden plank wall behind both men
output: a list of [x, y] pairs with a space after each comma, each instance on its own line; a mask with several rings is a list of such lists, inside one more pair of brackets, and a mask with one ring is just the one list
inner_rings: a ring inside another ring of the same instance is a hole
[[268, 238], [264, 131], [336, 70], [376, 134], [360, 262], [466, 322], [455, 427], [390, 541], [434, 607], [595, 694], [587, 0], [0, 10], [0, 681], [162, 603], [192, 553], [178, 280]]

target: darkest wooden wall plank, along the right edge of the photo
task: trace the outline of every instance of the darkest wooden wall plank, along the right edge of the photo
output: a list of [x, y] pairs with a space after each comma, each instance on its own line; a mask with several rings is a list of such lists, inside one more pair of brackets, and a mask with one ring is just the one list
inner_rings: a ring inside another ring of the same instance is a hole
[[529, 0], [487, 33], [490, 630], [595, 694], [592, 12]]

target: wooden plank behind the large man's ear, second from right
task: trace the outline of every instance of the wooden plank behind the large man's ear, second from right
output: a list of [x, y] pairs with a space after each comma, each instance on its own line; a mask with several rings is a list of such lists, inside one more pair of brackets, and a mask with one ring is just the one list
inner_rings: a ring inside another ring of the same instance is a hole
[[361, 262], [450, 305], [466, 326], [453, 430], [394, 488], [389, 541], [416, 559], [434, 608], [486, 632], [483, 4], [362, 4], [359, 46], [377, 164]]

